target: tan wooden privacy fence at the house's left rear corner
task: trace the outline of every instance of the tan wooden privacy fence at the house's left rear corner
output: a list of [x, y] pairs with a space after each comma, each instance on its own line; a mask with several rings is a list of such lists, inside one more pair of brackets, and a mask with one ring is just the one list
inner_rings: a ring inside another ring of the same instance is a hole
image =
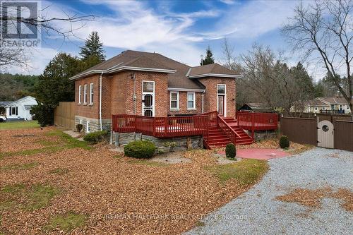
[[59, 102], [54, 109], [54, 125], [75, 128], [75, 102]]

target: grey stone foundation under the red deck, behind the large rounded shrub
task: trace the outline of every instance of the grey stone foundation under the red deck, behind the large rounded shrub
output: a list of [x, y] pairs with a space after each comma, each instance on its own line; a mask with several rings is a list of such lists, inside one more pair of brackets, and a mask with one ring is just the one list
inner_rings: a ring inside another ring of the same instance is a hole
[[[188, 147], [189, 139], [189, 147]], [[127, 145], [134, 140], [150, 140], [157, 147], [157, 152], [169, 152], [170, 150], [188, 150], [203, 148], [203, 137], [201, 135], [184, 136], [176, 138], [156, 138], [141, 133], [114, 133], [114, 145]], [[174, 147], [173, 147], [174, 145]]]

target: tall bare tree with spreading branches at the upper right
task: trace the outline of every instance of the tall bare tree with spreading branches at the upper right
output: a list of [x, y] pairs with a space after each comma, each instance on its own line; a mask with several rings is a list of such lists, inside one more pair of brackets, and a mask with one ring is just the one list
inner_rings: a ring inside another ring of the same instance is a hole
[[[328, 72], [328, 79], [335, 83], [345, 97], [351, 112], [352, 16], [352, 0], [316, 0], [309, 6], [299, 4], [294, 9], [294, 16], [289, 18], [289, 23], [283, 28], [294, 50], [304, 52], [306, 59], [314, 57], [322, 61]], [[347, 78], [345, 86], [341, 83], [341, 75]]]

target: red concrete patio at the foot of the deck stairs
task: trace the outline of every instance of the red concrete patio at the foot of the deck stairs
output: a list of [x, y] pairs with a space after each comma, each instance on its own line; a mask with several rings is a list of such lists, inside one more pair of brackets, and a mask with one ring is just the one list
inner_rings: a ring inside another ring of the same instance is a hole
[[[219, 153], [225, 155], [225, 151], [220, 151]], [[237, 157], [261, 160], [268, 160], [277, 157], [287, 157], [290, 155], [291, 154], [288, 152], [271, 148], [249, 148], [245, 150], [237, 150]]]

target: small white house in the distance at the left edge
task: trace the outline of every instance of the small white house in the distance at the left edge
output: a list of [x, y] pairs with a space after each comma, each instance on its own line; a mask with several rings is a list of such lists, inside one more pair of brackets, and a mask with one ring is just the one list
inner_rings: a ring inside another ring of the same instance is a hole
[[6, 104], [6, 116], [10, 120], [32, 120], [32, 106], [37, 105], [34, 97], [26, 96]]

